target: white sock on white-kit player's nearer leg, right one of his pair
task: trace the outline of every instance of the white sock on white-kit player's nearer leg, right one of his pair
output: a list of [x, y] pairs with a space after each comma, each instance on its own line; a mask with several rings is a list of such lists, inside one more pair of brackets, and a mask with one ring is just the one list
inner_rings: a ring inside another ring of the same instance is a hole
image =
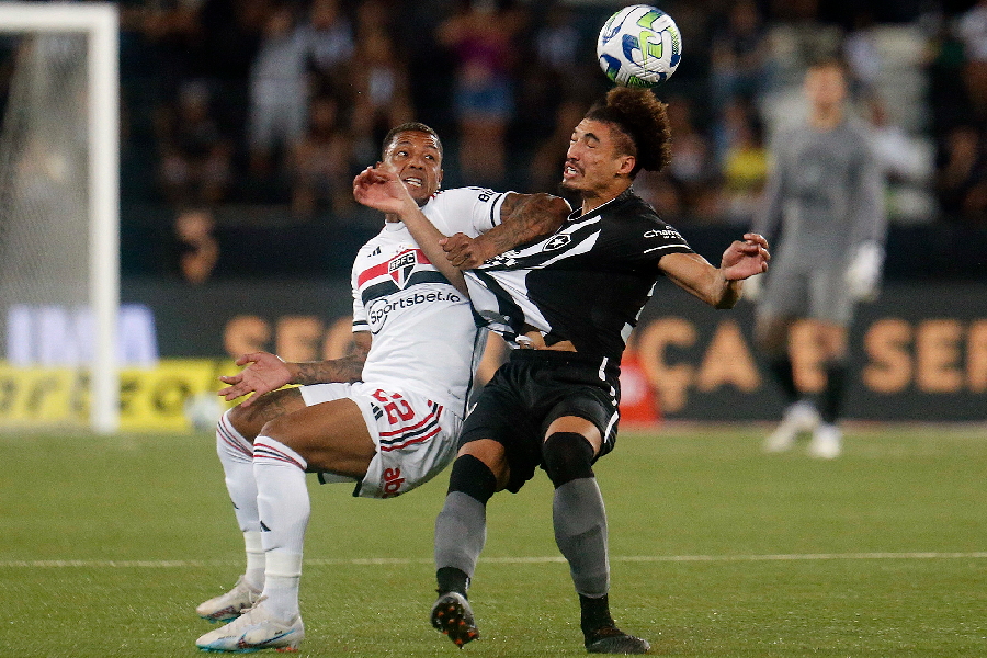
[[264, 547], [265, 608], [290, 622], [298, 614], [302, 551], [311, 513], [305, 485], [305, 460], [270, 436], [253, 442], [253, 475]]

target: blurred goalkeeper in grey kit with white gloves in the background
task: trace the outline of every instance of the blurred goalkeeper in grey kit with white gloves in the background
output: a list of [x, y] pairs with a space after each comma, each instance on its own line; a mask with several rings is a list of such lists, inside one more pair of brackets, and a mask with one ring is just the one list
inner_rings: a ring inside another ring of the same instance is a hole
[[[876, 296], [887, 224], [867, 127], [847, 115], [841, 63], [809, 67], [804, 91], [808, 121], [775, 140], [765, 213], [752, 229], [769, 238], [780, 231], [771, 273], [757, 295], [755, 341], [787, 402], [764, 449], [787, 450], [799, 432], [812, 431], [809, 453], [833, 458], [842, 450], [837, 420], [847, 385], [847, 329], [854, 304]], [[818, 410], [792, 370], [789, 334], [798, 319], [814, 325], [822, 353], [826, 386]]]

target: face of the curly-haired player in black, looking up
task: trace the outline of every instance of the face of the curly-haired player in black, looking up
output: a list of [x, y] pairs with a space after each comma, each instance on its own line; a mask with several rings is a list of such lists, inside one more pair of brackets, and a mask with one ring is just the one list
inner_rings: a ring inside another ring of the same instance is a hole
[[633, 157], [620, 152], [613, 131], [604, 122], [589, 118], [579, 122], [569, 138], [563, 188], [583, 195], [605, 195], [622, 180], [622, 173], [633, 169]]

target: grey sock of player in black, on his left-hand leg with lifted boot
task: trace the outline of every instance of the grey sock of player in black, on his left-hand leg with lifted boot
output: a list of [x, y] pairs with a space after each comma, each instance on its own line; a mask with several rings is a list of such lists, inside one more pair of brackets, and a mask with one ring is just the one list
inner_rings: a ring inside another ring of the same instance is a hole
[[487, 506], [462, 491], [450, 491], [435, 519], [435, 568], [455, 567], [473, 578], [487, 542]]

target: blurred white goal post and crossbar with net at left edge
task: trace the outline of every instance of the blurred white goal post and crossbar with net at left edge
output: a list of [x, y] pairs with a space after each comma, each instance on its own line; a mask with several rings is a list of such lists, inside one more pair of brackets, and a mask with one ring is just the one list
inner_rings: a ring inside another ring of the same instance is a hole
[[[114, 4], [109, 2], [88, 3], [34, 3], [34, 2], [0, 2], [0, 34], [22, 34], [25, 37], [34, 37], [36, 41], [58, 35], [84, 36], [84, 94], [81, 99], [64, 98], [66, 103], [79, 103], [86, 113], [86, 157], [79, 162], [78, 169], [84, 169], [84, 184], [80, 184], [84, 194], [87, 211], [82, 222], [87, 223], [84, 232], [84, 250], [87, 259], [78, 272], [86, 279], [86, 290], [80, 293], [82, 299], [72, 299], [71, 303], [88, 308], [92, 318], [91, 336], [87, 338], [92, 344], [87, 351], [89, 354], [89, 424], [101, 433], [116, 431], [120, 424], [120, 367], [116, 355], [116, 331], [120, 315], [120, 65], [118, 65], [118, 16]], [[63, 54], [64, 55], [64, 54]], [[18, 66], [30, 66], [30, 63], [18, 61]], [[14, 72], [14, 81], [19, 71]], [[41, 75], [43, 79], [44, 73]], [[44, 80], [42, 80], [44, 84]], [[48, 80], [49, 86], [57, 83]], [[43, 86], [42, 84], [42, 86]], [[38, 87], [35, 81], [34, 87]], [[9, 146], [10, 139], [5, 133], [12, 129], [8, 126], [11, 116], [16, 112], [14, 103], [19, 101], [12, 90], [8, 102], [7, 116], [4, 117], [3, 138], [0, 139], [0, 149], [4, 144]], [[34, 90], [36, 93], [36, 90]], [[55, 90], [57, 93], [58, 90]], [[67, 90], [63, 95], [70, 95]], [[23, 110], [22, 110], [23, 111]], [[35, 111], [47, 112], [41, 106]], [[57, 115], [55, 115], [57, 117]], [[53, 121], [57, 121], [53, 120]], [[15, 161], [10, 154], [0, 154], [3, 161], [0, 167], [12, 169]], [[65, 159], [61, 169], [71, 168], [73, 160]], [[56, 169], [58, 166], [55, 166]], [[18, 174], [7, 171], [0, 172], [4, 183]], [[0, 190], [0, 203], [10, 205], [15, 192]], [[70, 197], [71, 198], [71, 197]], [[16, 201], [14, 198], [14, 201]], [[60, 200], [61, 207], [67, 203]], [[5, 208], [2, 211], [8, 212]], [[3, 238], [3, 222], [10, 220], [8, 216], [0, 217], [0, 239]], [[67, 219], [68, 220], [68, 219]], [[22, 222], [25, 222], [22, 219]], [[16, 230], [8, 229], [10, 231]], [[80, 234], [81, 236], [82, 234]], [[83, 238], [80, 237], [80, 242]], [[2, 241], [2, 240], [0, 240]], [[2, 245], [0, 245], [2, 247]], [[77, 246], [78, 247], [78, 246]], [[12, 249], [16, 250], [14, 245]], [[81, 249], [78, 249], [81, 251]], [[44, 250], [43, 250], [44, 251]], [[45, 253], [57, 258], [58, 251], [50, 250]], [[26, 258], [26, 257], [25, 257]], [[60, 265], [52, 263], [50, 268], [61, 274]], [[0, 263], [0, 268], [3, 263]], [[69, 268], [65, 268], [66, 271]], [[0, 270], [2, 276], [2, 270]], [[78, 281], [69, 281], [71, 274], [63, 276], [61, 284], [67, 288], [78, 285]], [[26, 283], [27, 287], [32, 284]], [[11, 304], [19, 303], [14, 299], [10, 282], [3, 290], [8, 299], [0, 299], [0, 310], [8, 313]], [[30, 296], [30, 295], [29, 295]], [[56, 295], [57, 296], [57, 295]], [[27, 299], [26, 303], [31, 303]], [[50, 303], [43, 299], [43, 303]], [[4, 319], [5, 321], [5, 319]], [[8, 328], [9, 331], [9, 328]], [[7, 355], [10, 359], [10, 355]]]

